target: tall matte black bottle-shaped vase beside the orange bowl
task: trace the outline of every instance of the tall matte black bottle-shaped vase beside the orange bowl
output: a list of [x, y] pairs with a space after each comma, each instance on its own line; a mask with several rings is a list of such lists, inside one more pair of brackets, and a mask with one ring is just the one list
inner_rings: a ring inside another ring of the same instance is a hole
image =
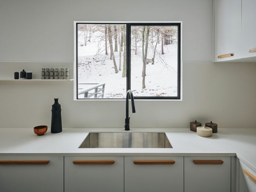
[[61, 108], [58, 103], [58, 98], [54, 99], [54, 104], [52, 105], [52, 125], [51, 133], [60, 133], [62, 131], [61, 124]]

